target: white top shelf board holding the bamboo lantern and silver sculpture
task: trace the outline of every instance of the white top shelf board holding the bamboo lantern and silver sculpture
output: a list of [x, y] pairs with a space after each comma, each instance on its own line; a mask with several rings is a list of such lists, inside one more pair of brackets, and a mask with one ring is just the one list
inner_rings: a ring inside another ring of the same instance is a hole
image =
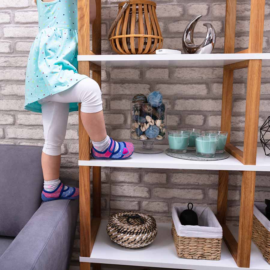
[[270, 53], [78, 55], [78, 61], [102, 67], [221, 67], [248, 59], [270, 65]]

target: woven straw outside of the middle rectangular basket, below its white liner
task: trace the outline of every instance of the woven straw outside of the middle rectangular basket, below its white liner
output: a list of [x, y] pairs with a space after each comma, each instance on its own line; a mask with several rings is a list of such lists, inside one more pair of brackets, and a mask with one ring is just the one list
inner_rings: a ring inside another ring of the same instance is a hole
[[222, 238], [184, 237], [177, 235], [172, 224], [173, 241], [178, 257], [185, 259], [220, 260]]

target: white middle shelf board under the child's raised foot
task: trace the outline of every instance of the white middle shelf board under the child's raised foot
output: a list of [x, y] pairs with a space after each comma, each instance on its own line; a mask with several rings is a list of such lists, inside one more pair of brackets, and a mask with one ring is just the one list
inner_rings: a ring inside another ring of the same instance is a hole
[[[158, 145], [157, 147], [165, 150], [169, 146]], [[241, 147], [239, 148], [241, 149]], [[229, 158], [219, 161], [191, 161], [173, 158], [163, 152], [150, 155], [134, 153], [130, 158], [124, 160], [100, 160], [91, 158], [89, 161], [79, 160], [79, 166], [269, 172], [270, 157], [264, 154], [262, 147], [258, 147], [256, 165], [243, 165], [231, 155]]]

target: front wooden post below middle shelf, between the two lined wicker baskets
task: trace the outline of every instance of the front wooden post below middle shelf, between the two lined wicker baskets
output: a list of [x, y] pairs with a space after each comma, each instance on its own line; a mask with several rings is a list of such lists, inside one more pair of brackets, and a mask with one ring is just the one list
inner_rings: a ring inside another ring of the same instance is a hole
[[249, 268], [256, 172], [243, 171], [238, 234], [238, 267]]

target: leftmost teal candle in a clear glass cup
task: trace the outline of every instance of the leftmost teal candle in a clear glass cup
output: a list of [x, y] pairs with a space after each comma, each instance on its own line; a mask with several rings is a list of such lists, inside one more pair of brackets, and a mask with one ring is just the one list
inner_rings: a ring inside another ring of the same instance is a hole
[[170, 152], [173, 153], [186, 153], [189, 141], [190, 132], [183, 130], [170, 130], [168, 131], [168, 140]]

